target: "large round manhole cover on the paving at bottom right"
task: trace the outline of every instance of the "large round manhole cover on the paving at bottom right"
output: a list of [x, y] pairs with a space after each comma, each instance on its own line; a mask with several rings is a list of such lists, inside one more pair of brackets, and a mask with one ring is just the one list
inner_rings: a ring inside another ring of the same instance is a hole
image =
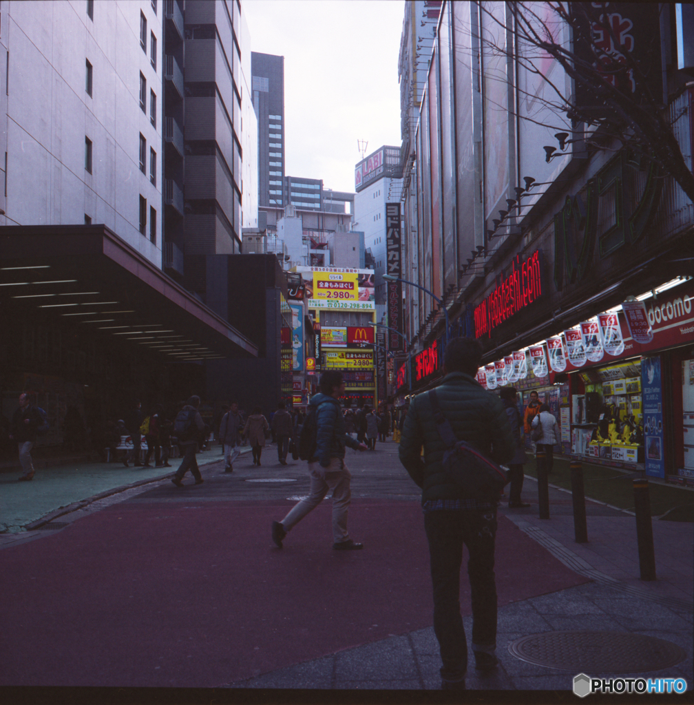
[[544, 632], [509, 644], [516, 658], [572, 673], [647, 673], [687, 654], [664, 639], [623, 632]]

